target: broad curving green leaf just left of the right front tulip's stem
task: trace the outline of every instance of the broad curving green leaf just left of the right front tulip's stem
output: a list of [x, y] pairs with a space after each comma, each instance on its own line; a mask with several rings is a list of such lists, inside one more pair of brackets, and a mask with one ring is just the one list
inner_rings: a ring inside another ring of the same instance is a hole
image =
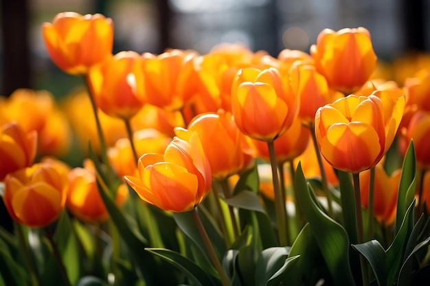
[[345, 228], [318, 208], [299, 163], [295, 174], [297, 200], [323, 254], [335, 285], [355, 285], [350, 268], [350, 241]]

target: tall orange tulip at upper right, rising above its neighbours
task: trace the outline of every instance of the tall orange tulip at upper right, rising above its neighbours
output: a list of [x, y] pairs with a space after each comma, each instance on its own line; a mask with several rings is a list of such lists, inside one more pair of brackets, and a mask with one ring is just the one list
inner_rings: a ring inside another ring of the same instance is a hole
[[317, 71], [324, 75], [330, 88], [346, 95], [360, 88], [376, 69], [377, 57], [370, 32], [364, 27], [335, 32], [322, 30], [317, 44], [310, 47]]

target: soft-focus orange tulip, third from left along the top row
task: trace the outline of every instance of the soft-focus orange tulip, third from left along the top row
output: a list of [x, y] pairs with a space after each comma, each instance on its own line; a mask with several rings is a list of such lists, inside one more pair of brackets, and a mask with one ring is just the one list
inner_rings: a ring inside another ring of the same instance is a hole
[[195, 51], [172, 49], [158, 56], [152, 53], [142, 56], [143, 102], [166, 110], [180, 110], [196, 95]]

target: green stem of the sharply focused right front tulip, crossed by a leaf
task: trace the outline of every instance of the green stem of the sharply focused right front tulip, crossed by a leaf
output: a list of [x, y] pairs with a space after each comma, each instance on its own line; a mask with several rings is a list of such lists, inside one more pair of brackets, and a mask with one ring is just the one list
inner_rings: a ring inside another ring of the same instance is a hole
[[[360, 195], [360, 176], [359, 173], [352, 174], [354, 180], [354, 201], [355, 201], [355, 215], [357, 222], [357, 236], [358, 243], [364, 242], [363, 235], [363, 214], [361, 212], [361, 195]], [[363, 286], [369, 286], [369, 274], [367, 273], [367, 263], [365, 257], [360, 255], [360, 265], [361, 265], [361, 277], [363, 278]]]

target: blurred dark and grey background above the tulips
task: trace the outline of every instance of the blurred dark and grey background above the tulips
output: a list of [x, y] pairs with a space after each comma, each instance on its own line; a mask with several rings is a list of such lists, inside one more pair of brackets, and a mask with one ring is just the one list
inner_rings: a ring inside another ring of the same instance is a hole
[[385, 62], [430, 47], [430, 0], [1, 0], [0, 95], [29, 87], [63, 97], [80, 82], [54, 66], [41, 36], [42, 23], [64, 11], [111, 17], [114, 53], [207, 53], [241, 42], [278, 56], [285, 48], [308, 52], [326, 27], [359, 26]]

